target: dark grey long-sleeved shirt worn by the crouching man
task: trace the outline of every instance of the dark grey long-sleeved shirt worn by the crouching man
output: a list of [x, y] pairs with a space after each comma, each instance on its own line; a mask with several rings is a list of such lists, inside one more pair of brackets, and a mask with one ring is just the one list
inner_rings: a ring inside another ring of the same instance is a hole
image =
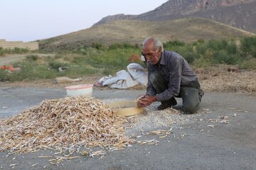
[[[190, 84], [191, 81], [197, 81], [196, 74], [189, 66], [188, 62], [178, 53], [171, 51], [161, 52], [160, 62], [158, 64], [148, 63], [148, 78], [154, 71], [160, 71], [164, 79], [168, 82], [167, 89], [156, 96], [157, 101], [168, 101], [174, 96], [178, 96], [180, 87]], [[148, 79], [146, 94], [155, 96], [156, 91]]]

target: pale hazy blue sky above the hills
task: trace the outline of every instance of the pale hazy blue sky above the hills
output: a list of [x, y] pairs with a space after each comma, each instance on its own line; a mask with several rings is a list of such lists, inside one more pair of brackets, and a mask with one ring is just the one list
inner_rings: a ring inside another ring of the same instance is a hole
[[105, 16], [140, 14], [168, 0], [0, 0], [0, 39], [32, 41], [90, 28]]

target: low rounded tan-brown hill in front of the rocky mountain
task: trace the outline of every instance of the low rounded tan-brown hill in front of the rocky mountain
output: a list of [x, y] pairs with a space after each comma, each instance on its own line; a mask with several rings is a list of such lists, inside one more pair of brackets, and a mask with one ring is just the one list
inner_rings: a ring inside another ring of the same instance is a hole
[[151, 36], [164, 42], [170, 40], [187, 42], [198, 39], [239, 38], [248, 35], [254, 34], [203, 18], [183, 18], [175, 21], [123, 20], [41, 40], [39, 44], [41, 50], [55, 50], [91, 45], [92, 42], [105, 45], [129, 42], [140, 45], [144, 38]]

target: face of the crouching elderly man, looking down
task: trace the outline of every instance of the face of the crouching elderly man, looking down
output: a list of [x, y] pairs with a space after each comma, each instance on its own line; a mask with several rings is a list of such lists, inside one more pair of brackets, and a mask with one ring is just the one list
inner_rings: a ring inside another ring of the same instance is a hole
[[158, 50], [154, 50], [153, 42], [146, 42], [142, 49], [142, 55], [146, 58], [146, 61], [153, 65], [157, 64], [161, 57], [161, 47]]

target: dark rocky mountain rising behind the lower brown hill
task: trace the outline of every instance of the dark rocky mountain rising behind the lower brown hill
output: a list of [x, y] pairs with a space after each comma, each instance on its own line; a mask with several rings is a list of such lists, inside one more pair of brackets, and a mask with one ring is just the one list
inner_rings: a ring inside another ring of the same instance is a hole
[[256, 33], [256, 0], [169, 0], [140, 15], [117, 14], [95, 23], [116, 20], [167, 21], [197, 16]]

